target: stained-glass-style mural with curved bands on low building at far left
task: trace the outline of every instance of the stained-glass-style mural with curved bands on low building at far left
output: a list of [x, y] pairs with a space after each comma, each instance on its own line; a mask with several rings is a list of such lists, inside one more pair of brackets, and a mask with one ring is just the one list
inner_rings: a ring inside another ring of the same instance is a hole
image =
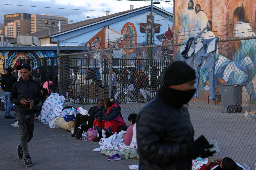
[[[8, 54], [8, 59], [5, 63], [5, 54]], [[56, 57], [57, 50], [35, 50], [35, 51], [0, 51], [0, 73], [4, 74], [5, 66], [18, 66], [18, 59], [21, 58], [39, 58], [39, 57]]]

